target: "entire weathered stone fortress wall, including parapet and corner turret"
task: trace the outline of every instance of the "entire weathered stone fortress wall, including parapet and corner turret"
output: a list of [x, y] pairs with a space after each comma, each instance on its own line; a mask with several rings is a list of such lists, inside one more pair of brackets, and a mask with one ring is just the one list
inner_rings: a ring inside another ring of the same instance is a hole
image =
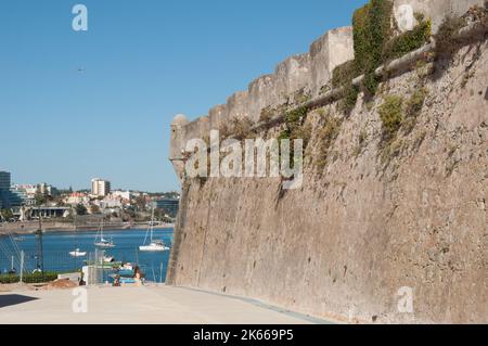
[[[395, 1], [402, 30], [414, 12], [432, 18], [436, 31], [447, 14], [485, 4], [409, 3]], [[345, 60], [332, 54], [334, 47], [352, 49], [350, 28], [328, 33], [209, 116], [190, 123], [178, 115], [170, 158], [183, 178], [187, 140], [205, 139], [232, 117], [255, 123], [264, 106], [281, 105], [304, 88], [311, 98], [304, 102], [298, 93], [299, 102], [271, 110], [272, 119], [253, 129], [275, 138], [286, 112], [308, 110], [309, 164], [300, 189], [284, 191], [278, 178], [182, 179], [167, 284], [351, 323], [486, 323], [488, 33], [472, 24], [459, 31], [462, 47], [452, 59], [434, 61], [441, 40], [433, 40], [377, 68], [378, 92], [373, 99], [360, 92], [347, 114], [345, 88], [322, 86]], [[419, 95], [413, 128], [402, 125], [385, 143], [381, 113], [388, 100], [401, 100], [403, 120]], [[403, 289], [410, 312], [400, 309]]]

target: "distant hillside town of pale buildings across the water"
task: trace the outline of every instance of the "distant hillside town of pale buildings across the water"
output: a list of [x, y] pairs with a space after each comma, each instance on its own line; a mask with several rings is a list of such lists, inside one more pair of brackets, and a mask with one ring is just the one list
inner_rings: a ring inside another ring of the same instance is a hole
[[0, 218], [3, 222], [51, 219], [73, 222], [75, 217], [104, 216], [120, 222], [174, 222], [179, 193], [112, 190], [111, 181], [93, 178], [87, 190], [62, 190], [48, 183], [17, 184], [0, 171]]

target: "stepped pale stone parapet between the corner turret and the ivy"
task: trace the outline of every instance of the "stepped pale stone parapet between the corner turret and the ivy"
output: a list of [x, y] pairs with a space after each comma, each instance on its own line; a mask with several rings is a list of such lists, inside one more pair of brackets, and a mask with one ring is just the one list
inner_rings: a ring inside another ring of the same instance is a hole
[[[247, 90], [239, 91], [226, 104], [213, 107], [209, 111], [208, 126], [217, 129], [232, 118], [258, 121], [264, 108], [287, 102], [294, 92], [304, 90], [305, 93], [317, 94], [331, 79], [334, 67], [351, 59], [351, 28], [331, 30], [311, 46], [310, 53], [286, 59], [277, 66], [273, 74], [255, 79]], [[204, 127], [194, 123], [182, 129], [187, 132], [185, 138], [202, 138], [203, 133], [197, 130]]]

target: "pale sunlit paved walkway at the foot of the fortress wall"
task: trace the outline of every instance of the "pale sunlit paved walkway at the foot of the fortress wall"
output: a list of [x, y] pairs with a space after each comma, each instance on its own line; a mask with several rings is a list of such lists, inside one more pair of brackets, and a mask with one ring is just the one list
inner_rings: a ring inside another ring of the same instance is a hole
[[257, 302], [170, 286], [90, 287], [88, 312], [73, 312], [72, 290], [0, 293], [0, 324], [323, 323]]

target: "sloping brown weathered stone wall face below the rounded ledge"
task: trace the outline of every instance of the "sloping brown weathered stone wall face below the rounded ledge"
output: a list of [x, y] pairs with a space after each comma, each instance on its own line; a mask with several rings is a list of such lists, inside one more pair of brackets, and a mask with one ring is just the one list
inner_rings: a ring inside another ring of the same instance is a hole
[[[414, 71], [359, 100], [323, 175], [306, 168], [303, 189], [187, 181], [168, 283], [351, 322], [488, 322], [487, 43], [475, 51], [444, 75]], [[385, 167], [378, 106], [420, 86], [418, 125]], [[344, 117], [335, 104], [309, 115], [312, 152], [324, 116]], [[414, 313], [397, 310], [403, 286]]]

